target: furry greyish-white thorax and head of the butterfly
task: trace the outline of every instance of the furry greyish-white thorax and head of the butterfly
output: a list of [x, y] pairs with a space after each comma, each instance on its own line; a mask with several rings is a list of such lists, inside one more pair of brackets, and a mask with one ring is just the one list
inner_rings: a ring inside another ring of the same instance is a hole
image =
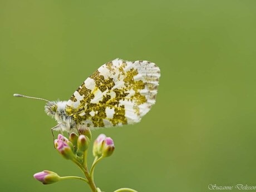
[[48, 116], [54, 117], [58, 122], [58, 130], [69, 131], [76, 126], [72, 116], [66, 114], [67, 101], [51, 101], [47, 102], [45, 112]]

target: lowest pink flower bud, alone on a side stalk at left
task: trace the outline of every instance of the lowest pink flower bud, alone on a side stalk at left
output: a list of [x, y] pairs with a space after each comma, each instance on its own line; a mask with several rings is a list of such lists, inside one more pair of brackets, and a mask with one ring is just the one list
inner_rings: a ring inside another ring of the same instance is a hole
[[36, 180], [42, 182], [43, 184], [56, 183], [57, 181], [60, 181], [60, 179], [61, 179], [60, 176], [58, 176], [58, 174], [56, 174], [52, 171], [47, 171], [47, 170], [36, 173], [33, 176]]

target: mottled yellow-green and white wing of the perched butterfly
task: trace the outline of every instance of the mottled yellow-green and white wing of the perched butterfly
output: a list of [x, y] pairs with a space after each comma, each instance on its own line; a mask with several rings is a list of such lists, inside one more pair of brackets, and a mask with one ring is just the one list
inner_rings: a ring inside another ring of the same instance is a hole
[[155, 63], [116, 59], [82, 83], [68, 100], [66, 113], [87, 127], [134, 124], [155, 104], [159, 77]]

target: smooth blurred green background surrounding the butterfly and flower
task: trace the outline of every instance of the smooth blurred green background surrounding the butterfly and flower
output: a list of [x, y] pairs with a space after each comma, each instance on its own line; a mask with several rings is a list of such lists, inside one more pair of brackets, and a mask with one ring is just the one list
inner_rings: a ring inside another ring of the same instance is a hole
[[255, 45], [253, 0], [0, 0], [0, 191], [90, 191], [78, 180], [33, 179], [45, 169], [82, 174], [53, 149], [45, 103], [12, 94], [68, 100], [117, 57], [155, 62], [159, 93], [139, 124], [93, 131], [116, 145], [96, 168], [97, 186], [255, 186]]

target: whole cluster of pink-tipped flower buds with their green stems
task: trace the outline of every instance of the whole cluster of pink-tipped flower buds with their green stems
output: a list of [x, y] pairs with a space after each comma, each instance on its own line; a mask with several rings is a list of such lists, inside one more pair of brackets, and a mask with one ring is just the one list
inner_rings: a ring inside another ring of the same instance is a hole
[[80, 179], [85, 181], [93, 192], [100, 191], [93, 180], [93, 171], [100, 160], [112, 155], [115, 149], [114, 141], [110, 137], [101, 134], [93, 142], [92, 154], [95, 157], [90, 171], [87, 167], [87, 150], [91, 142], [91, 131], [80, 130], [79, 135], [72, 132], [69, 138], [59, 134], [54, 142], [55, 149], [67, 160], [73, 161], [85, 174], [85, 178], [78, 176], [59, 176], [52, 171], [36, 173], [34, 178], [43, 184], [52, 184], [63, 179]]

